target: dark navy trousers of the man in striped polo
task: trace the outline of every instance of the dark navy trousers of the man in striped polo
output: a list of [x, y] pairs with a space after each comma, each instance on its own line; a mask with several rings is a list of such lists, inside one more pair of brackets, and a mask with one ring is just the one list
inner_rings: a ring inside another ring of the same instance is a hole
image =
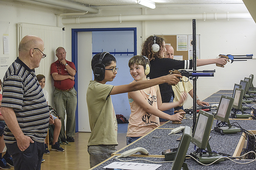
[[18, 148], [17, 142], [13, 144], [5, 144], [8, 153], [12, 156], [14, 170], [40, 170], [45, 150], [44, 143], [34, 141], [30, 143], [25, 151]]

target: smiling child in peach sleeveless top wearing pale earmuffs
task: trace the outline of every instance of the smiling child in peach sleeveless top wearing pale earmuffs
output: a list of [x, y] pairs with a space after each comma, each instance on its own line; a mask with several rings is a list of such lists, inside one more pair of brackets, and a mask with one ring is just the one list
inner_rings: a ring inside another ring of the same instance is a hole
[[[150, 69], [149, 59], [147, 57], [140, 55], [133, 56], [129, 60], [128, 65], [130, 67], [130, 74], [134, 78], [131, 83], [147, 80], [146, 76], [149, 74]], [[159, 117], [166, 120], [182, 121], [183, 116], [181, 114], [185, 112], [169, 115], [162, 111], [179, 106], [185, 101], [186, 97], [186, 93], [182, 93], [180, 101], [162, 103], [158, 85], [135, 92], [128, 92], [131, 115], [126, 135], [127, 145], [160, 126]]]

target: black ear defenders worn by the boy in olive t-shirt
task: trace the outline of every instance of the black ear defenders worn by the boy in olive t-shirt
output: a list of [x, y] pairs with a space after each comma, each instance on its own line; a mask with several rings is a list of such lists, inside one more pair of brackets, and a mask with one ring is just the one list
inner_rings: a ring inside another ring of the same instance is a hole
[[103, 52], [100, 54], [99, 62], [94, 64], [93, 67], [93, 74], [94, 79], [97, 81], [102, 81], [105, 78], [105, 65], [102, 64], [102, 60], [106, 54], [109, 54], [109, 52]]

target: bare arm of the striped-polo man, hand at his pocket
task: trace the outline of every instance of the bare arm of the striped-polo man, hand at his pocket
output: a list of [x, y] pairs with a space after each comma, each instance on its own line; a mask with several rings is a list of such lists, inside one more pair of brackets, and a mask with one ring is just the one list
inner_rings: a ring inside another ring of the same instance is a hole
[[34, 141], [29, 136], [24, 135], [12, 108], [1, 107], [1, 113], [6, 125], [16, 138], [19, 149], [25, 151]]

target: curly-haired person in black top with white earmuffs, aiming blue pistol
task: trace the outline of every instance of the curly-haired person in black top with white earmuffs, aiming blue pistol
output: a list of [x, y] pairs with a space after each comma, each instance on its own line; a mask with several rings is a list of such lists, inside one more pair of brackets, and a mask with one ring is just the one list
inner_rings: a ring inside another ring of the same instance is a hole
[[[159, 46], [157, 46], [159, 45]], [[161, 77], [163, 75], [169, 74], [169, 70], [172, 69], [192, 69], [193, 60], [175, 60], [171, 58], [164, 58], [166, 49], [164, 39], [158, 36], [150, 36], [142, 44], [141, 55], [148, 57], [150, 60], [150, 73], [147, 77], [150, 79]], [[218, 63], [225, 65], [228, 59], [214, 58], [214, 59], [197, 59], [196, 65], [202, 66], [207, 64]], [[163, 103], [172, 102], [174, 98], [174, 93], [172, 87], [167, 83], [159, 84], [160, 93]], [[163, 111], [167, 114], [174, 114], [174, 109]], [[167, 120], [161, 119], [160, 122], [165, 122]]]

